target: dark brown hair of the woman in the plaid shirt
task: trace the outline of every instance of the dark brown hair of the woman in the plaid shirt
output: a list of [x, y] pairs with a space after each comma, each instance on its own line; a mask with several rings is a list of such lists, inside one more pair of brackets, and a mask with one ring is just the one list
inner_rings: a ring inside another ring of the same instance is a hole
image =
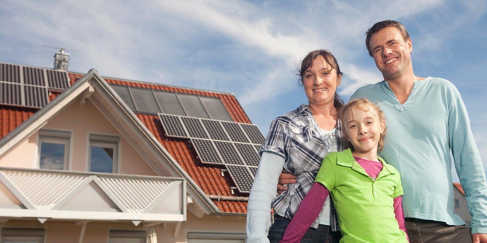
[[[309, 69], [313, 65], [313, 61], [315, 61], [318, 56], [322, 56], [323, 59], [325, 59], [325, 62], [330, 65], [333, 69], [337, 71], [337, 75], [343, 74], [340, 71], [340, 66], [338, 66], [337, 58], [332, 54], [332, 52], [328, 50], [315, 50], [312, 52], [309, 52], [301, 61], [300, 67], [298, 67], [295, 71], [295, 74], [300, 76], [299, 79], [299, 85], [303, 86], [303, 75], [304, 72]], [[333, 105], [337, 110], [341, 109], [343, 107], [343, 100], [340, 98], [340, 96], [335, 92], [335, 99]]]

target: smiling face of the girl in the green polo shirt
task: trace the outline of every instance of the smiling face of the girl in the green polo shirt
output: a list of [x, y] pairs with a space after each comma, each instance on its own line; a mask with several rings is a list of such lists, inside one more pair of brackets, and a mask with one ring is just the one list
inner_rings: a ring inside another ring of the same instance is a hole
[[376, 154], [377, 144], [380, 135], [384, 132], [385, 122], [381, 122], [368, 105], [367, 107], [350, 109], [346, 121], [346, 138], [354, 145], [355, 152], [358, 154], [370, 152]]

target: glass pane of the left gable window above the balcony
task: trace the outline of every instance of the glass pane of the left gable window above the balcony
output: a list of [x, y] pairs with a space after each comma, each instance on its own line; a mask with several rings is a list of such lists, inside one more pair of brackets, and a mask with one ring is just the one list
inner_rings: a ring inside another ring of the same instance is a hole
[[64, 151], [64, 144], [42, 142], [40, 145], [40, 168], [64, 169]]

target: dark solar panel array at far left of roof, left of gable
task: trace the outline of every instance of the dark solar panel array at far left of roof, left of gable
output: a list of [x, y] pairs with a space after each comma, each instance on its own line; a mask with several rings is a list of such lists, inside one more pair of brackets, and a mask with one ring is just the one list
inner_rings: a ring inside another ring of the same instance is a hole
[[68, 87], [67, 71], [0, 63], [0, 104], [41, 108], [49, 89]]

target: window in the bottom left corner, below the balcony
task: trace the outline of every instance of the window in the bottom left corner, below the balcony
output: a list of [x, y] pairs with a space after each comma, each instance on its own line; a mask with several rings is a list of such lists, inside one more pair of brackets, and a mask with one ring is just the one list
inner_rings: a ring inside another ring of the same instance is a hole
[[44, 229], [3, 228], [1, 243], [43, 243]]

